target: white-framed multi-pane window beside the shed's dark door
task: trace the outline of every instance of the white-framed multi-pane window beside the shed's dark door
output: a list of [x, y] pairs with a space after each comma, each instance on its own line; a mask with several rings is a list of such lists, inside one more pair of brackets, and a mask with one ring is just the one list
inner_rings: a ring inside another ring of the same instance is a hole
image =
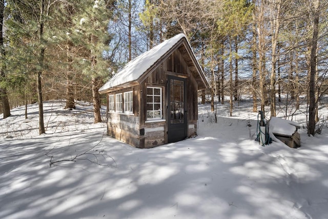
[[147, 120], [162, 118], [162, 88], [147, 87]]

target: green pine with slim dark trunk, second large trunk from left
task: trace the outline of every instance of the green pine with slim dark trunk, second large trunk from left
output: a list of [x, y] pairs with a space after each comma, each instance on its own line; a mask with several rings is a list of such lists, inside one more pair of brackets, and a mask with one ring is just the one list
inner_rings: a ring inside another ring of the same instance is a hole
[[[49, 63], [46, 62], [47, 59], [51, 59], [47, 48], [54, 45], [51, 24], [54, 23], [56, 17], [60, 16], [56, 10], [60, 4], [61, 2], [55, 0], [7, 1], [8, 14], [10, 14], [6, 21], [8, 45], [12, 51], [16, 51], [16, 53], [11, 53], [10, 58], [13, 64], [21, 63], [16, 67], [18, 74], [28, 74], [36, 78], [34, 86], [39, 108], [39, 134], [45, 133], [42, 83], [46, 80], [45, 73], [51, 69]], [[8, 62], [8, 65], [10, 65], [9, 68], [15, 68], [11, 62]], [[25, 79], [28, 78], [30, 77], [25, 77]]]

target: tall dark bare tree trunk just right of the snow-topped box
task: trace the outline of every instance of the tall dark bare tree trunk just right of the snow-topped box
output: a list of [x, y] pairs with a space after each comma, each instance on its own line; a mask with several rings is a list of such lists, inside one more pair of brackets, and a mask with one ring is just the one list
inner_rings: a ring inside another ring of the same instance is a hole
[[315, 97], [315, 76], [316, 76], [316, 65], [317, 65], [317, 43], [319, 34], [319, 0], [313, 2], [313, 35], [312, 41], [310, 42], [311, 53], [310, 53], [310, 84], [309, 84], [309, 125], [308, 134], [315, 134], [315, 117], [316, 117], [316, 97]]

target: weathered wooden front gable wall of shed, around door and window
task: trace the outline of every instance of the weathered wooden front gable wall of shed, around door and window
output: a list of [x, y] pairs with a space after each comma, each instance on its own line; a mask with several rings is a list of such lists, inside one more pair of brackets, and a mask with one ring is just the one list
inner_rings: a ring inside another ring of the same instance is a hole
[[[188, 136], [197, 133], [198, 103], [197, 82], [193, 77], [183, 55], [175, 50], [140, 84], [140, 129], [145, 129], [145, 136], [140, 136], [140, 143], [145, 148], [167, 144], [167, 76], [168, 74], [187, 78], [187, 109], [188, 109]], [[146, 120], [146, 88], [147, 86], [162, 87], [163, 122], [147, 123]], [[148, 131], [146, 131], [148, 130]]]

